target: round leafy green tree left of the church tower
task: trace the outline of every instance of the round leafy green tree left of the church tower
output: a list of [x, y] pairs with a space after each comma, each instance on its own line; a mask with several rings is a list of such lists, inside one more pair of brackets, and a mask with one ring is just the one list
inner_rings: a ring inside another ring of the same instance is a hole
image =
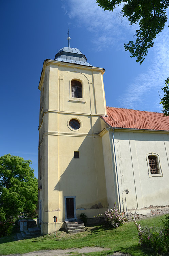
[[37, 212], [38, 181], [31, 160], [10, 154], [0, 157], [0, 220], [17, 218], [24, 212], [34, 217]]

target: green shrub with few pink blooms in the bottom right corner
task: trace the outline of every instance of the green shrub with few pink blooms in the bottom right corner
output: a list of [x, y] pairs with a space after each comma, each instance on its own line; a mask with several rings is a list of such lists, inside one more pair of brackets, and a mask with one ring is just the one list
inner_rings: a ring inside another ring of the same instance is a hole
[[168, 253], [169, 252], [169, 217], [166, 221], [163, 221], [165, 226], [162, 228], [156, 227], [141, 227], [133, 219], [139, 236], [138, 244], [142, 247], [148, 247], [156, 253]]

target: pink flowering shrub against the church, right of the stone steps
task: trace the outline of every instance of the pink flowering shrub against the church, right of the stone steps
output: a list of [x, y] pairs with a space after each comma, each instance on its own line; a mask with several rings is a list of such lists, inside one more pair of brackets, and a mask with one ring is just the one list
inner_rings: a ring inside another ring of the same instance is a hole
[[104, 213], [104, 226], [112, 226], [113, 228], [118, 228], [125, 223], [121, 216], [121, 213], [116, 208], [116, 203], [113, 209], [107, 210]]

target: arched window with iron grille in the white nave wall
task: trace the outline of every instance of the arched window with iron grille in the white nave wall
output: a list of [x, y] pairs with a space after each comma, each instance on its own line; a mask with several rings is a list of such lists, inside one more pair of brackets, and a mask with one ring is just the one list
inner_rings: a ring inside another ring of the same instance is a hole
[[146, 158], [147, 158], [147, 165], [149, 170], [149, 177], [153, 177], [153, 176], [163, 177], [159, 155], [151, 152], [146, 155]]

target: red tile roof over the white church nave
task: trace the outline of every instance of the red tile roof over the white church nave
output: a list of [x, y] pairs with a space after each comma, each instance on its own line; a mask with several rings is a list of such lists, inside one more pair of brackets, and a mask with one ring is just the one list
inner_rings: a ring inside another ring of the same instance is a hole
[[169, 117], [163, 113], [107, 107], [101, 118], [114, 128], [169, 131]]

